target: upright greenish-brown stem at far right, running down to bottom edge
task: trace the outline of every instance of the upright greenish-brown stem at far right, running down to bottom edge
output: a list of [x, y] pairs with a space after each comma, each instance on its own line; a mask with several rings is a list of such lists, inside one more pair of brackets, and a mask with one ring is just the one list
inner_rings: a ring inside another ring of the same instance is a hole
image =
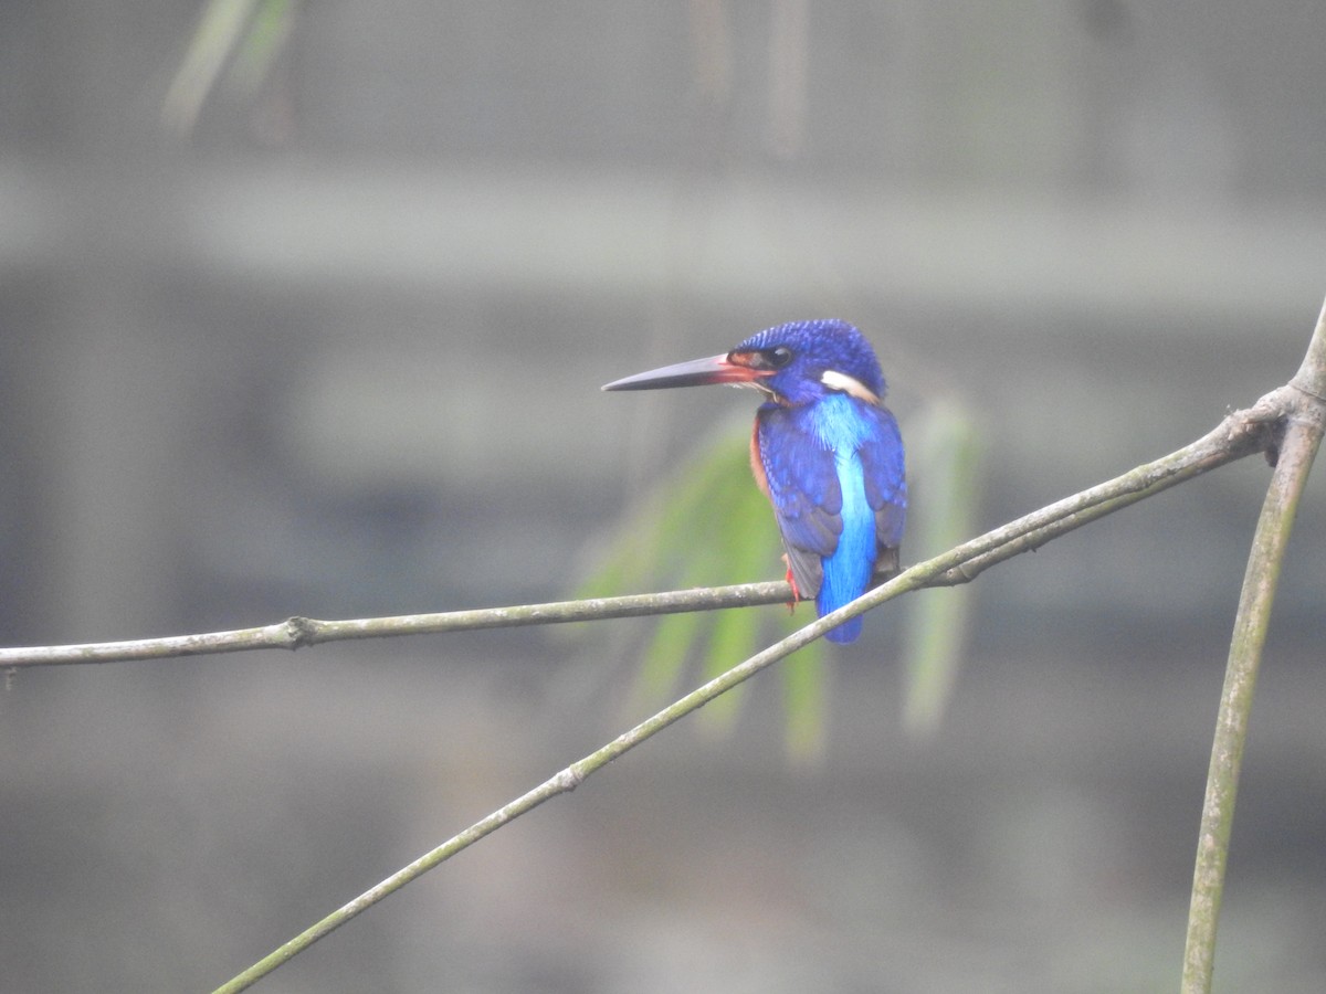
[[1307, 357], [1290, 386], [1298, 392], [1301, 403], [1286, 420], [1276, 472], [1272, 474], [1248, 554], [1238, 612], [1229, 640], [1225, 685], [1220, 694], [1220, 712], [1211, 746], [1207, 797], [1201, 808], [1197, 857], [1192, 872], [1188, 937], [1183, 954], [1183, 994], [1208, 994], [1215, 975], [1216, 926], [1257, 671], [1261, 667], [1270, 608], [1298, 512], [1298, 500], [1307, 484], [1307, 473], [1326, 427], [1326, 306], [1322, 307]]

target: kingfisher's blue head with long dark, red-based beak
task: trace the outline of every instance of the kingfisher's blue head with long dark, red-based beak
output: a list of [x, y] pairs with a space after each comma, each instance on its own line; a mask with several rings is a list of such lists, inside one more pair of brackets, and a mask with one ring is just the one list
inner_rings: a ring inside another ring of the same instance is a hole
[[662, 390], [731, 383], [756, 387], [781, 404], [809, 404], [849, 394], [878, 404], [884, 395], [879, 360], [846, 321], [777, 325], [751, 335], [725, 355], [693, 359], [609, 383], [603, 390]]

